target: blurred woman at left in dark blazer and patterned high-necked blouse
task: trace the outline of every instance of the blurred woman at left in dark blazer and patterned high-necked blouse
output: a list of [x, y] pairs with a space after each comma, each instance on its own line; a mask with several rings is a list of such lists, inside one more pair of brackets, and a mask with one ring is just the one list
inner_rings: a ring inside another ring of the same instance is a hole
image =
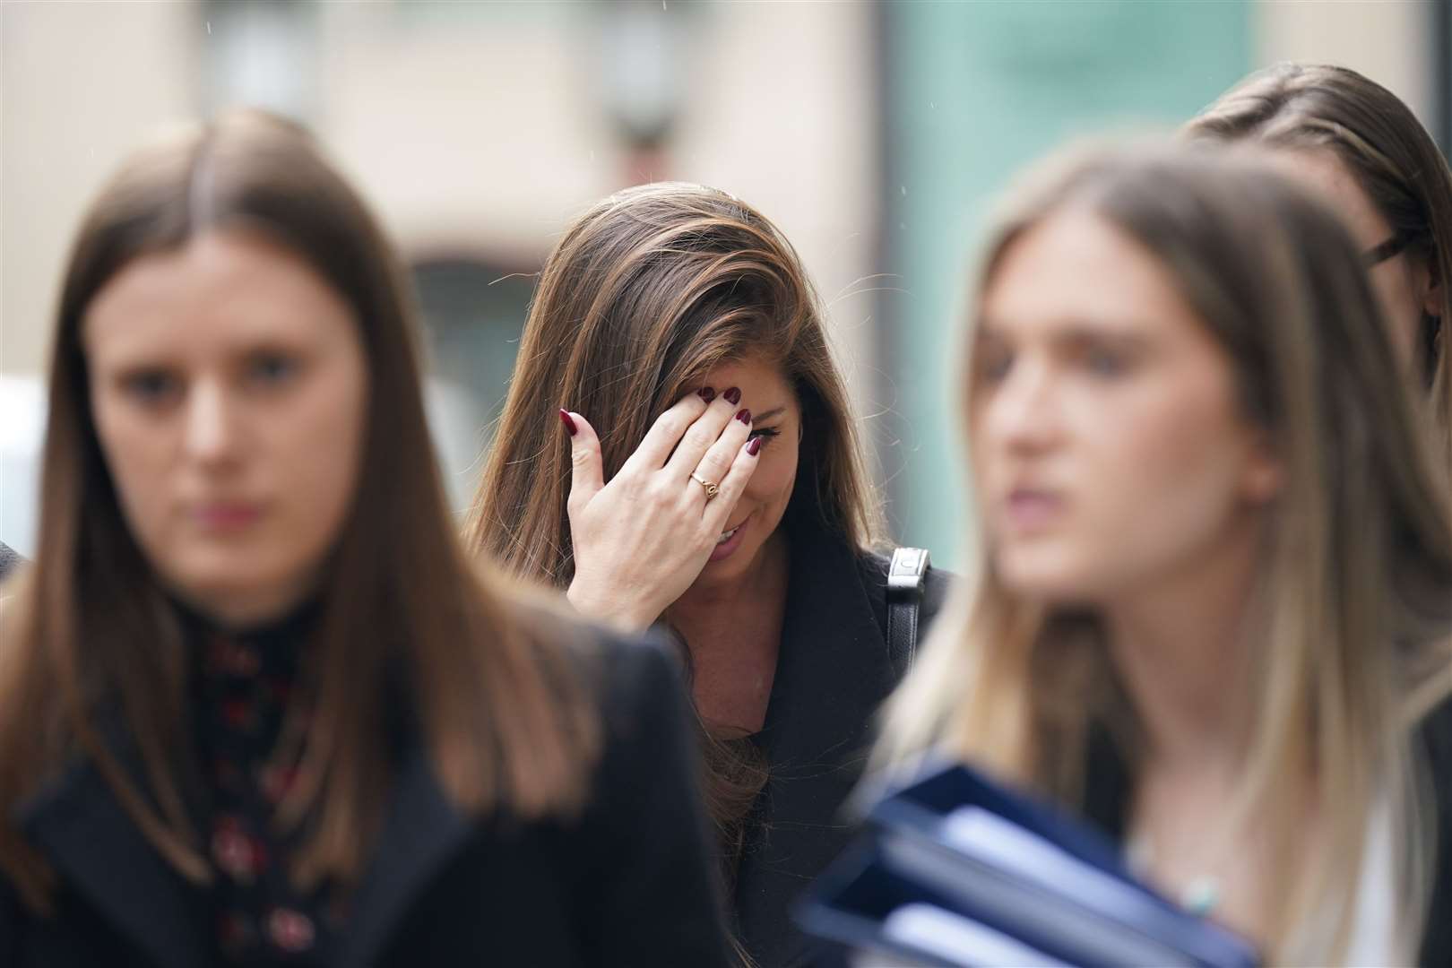
[[677, 676], [457, 549], [399, 273], [296, 128], [134, 157], [0, 649], [0, 964], [725, 964]]

